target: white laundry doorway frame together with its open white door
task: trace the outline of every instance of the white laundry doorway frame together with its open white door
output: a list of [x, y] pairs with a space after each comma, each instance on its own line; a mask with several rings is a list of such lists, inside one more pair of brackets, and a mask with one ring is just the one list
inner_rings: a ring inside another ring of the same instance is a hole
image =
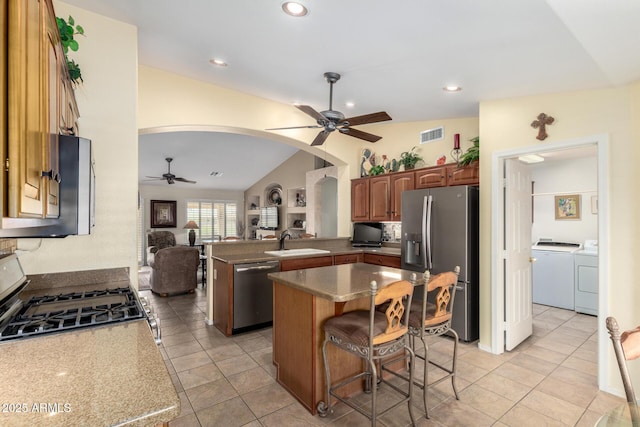
[[[530, 326], [528, 322], [531, 310], [531, 267], [525, 254], [531, 259], [532, 245], [532, 209], [531, 204], [522, 204], [523, 195], [510, 197], [510, 179], [507, 176], [508, 164], [519, 162], [517, 159], [527, 155], [583, 150], [595, 147], [597, 153], [597, 190], [598, 190], [598, 311], [604, 313], [608, 304], [608, 289], [604, 278], [608, 277], [608, 137], [595, 135], [575, 140], [559, 141], [546, 145], [523, 147], [514, 150], [495, 152], [492, 155], [492, 235], [491, 235], [491, 305], [492, 305], [492, 340], [491, 352], [503, 353], [517, 347], [517, 343], [526, 339]], [[522, 169], [526, 172], [527, 167]], [[526, 183], [522, 184], [526, 188]], [[533, 199], [533, 190], [529, 184], [529, 200]], [[585, 205], [583, 203], [583, 205]], [[588, 205], [588, 203], [586, 204]], [[585, 205], [585, 206], [586, 206]], [[517, 218], [516, 218], [517, 216]], [[521, 256], [515, 256], [520, 253]], [[598, 360], [606, 358], [606, 331], [599, 322], [598, 326]], [[517, 336], [516, 336], [517, 335]], [[598, 381], [603, 383], [606, 372], [605, 364], [598, 364]]]

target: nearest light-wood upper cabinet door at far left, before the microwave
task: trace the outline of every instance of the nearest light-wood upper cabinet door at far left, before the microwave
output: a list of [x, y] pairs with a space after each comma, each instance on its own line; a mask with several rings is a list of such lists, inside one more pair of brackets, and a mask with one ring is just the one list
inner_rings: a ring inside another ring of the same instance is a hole
[[9, 2], [8, 31], [8, 215], [41, 218], [46, 189], [46, 122], [42, 78], [44, 4]]

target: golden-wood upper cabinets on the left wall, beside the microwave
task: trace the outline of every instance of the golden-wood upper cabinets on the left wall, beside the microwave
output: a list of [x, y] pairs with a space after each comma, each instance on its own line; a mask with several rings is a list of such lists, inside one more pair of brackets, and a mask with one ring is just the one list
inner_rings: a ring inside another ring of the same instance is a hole
[[[4, 30], [7, 207], [12, 218], [59, 216], [58, 134], [66, 61], [51, 0], [8, 2]], [[75, 106], [73, 93], [65, 103]], [[72, 100], [71, 100], [72, 99]], [[77, 112], [77, 108], [76, 108]], [[77, 115], [76, 115], [77, 117]]]

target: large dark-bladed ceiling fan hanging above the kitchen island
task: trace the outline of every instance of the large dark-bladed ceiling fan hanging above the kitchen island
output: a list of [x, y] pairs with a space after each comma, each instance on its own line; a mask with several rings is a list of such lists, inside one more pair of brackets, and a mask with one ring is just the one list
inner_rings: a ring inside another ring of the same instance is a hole
[[329, 83], [329, 109], [326, 111], [317, 112], [308, 105], [296, 105], [302, 112], [310, 115], [316, 119], [315, 126], [292, 126], [285, 128], [272, 128], [266, 130], [284, 130], [284, 129], [303, 129], [303, 128], [323, 128], [318, 136], [313, 140], [311, 145], [322, 145], [327, 139], [329, 134], [335, 130], [345, 135], [353, 136], [355, 138], [364, 139], [369, 142], [376, 142], [382, 137], [373, 135], [371, 133], [363, 132], [361, 130], [352, 129], [350, 126], [366, 125], [369, 123], [383, 122], [385, 120], [391, 120], [391, 117], [384, 111], [380, 111], [372, 114], [365, 114], [363, 116], [345, 118], [344, 114], [340, 111], [333, 109], [333, 84], [340, 80], [340, 74], [327, 72], [324, 73], [324, 78]]

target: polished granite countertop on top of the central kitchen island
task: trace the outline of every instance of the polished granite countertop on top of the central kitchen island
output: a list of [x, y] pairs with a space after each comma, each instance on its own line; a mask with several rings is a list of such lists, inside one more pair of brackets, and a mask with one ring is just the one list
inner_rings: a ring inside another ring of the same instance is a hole
[[330, 301], [344, 302], [371, 295], [372, 280], [383, 288], [398, 280], [411, 280], [412, 274], [398, 268], [357, 263], [269, 273], [269, 278]]

